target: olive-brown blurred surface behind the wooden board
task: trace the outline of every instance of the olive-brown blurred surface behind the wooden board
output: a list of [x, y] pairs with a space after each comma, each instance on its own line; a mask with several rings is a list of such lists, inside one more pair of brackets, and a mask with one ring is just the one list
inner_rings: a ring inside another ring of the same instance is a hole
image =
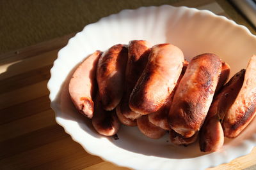
[[[242, 0], [243, 1], [243, 0]], [[140, 6], [186, 4], [196, 7], [211, 0], [0, 0], [0, 53], [79, 32], [87, 24], [124, 9]], [[228, 16], [238, 24], [252, 24], [234, 10], [230, 1], [217, 0]], [[253, 29], [250, 29], [253, 32]]]

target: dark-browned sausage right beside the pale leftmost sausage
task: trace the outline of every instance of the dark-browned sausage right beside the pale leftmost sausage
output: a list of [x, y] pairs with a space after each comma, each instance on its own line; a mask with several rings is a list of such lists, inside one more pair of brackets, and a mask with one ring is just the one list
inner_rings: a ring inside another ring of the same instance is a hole
[[122, 99], [127, 58], [127, 47], [119, 44], [102, 53], [99, 59], [97, 82], [105, 110], [113, 110]]

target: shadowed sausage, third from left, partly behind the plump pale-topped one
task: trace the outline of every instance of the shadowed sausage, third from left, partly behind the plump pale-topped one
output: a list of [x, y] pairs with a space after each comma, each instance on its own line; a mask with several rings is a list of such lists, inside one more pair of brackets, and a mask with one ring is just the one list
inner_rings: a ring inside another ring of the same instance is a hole
[[129, 107], [129, 98], [132, 89], [140, 78], [140, 75], [145, 68], [148, 55], [150, 52], [150, 45], [147, 41], [130, 41], [128, 46], [128, 60], [125, 71], [125, 90], [122, 101], [120, 102], [121, 113], [124, 117], [132, 120], [140, 117], [139, 113], [135, 113]]

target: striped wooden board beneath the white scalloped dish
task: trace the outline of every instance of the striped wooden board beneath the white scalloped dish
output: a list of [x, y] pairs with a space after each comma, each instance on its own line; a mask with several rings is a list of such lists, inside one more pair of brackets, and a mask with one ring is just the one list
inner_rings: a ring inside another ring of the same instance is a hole
[[[246, 25], [227, 1], [179, 1], [174, 6], [211, 10]], [[86, 153], [56, 124], [47, 81], [70, 34], [0, 55], [0, 169], [127, 169]], [[256, 168], [256, 148], [212, 169]]]

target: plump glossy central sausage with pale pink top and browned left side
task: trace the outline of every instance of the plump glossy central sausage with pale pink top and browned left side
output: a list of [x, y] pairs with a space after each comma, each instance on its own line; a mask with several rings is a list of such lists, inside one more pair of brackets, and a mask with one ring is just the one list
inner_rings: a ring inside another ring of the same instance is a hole
[[147, 66], [132, 90], [131, 110], [141, 115], [159, 110], [175, 87], [183, 62], [183, 53], [177, 46], [153, 46]]

